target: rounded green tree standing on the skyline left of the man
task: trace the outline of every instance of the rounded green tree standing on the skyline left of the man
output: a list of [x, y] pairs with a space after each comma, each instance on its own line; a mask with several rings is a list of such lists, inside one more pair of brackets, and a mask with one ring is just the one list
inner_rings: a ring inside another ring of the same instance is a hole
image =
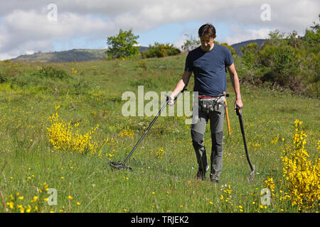
[[131, 58], [139, 55], [139, 48], [137, 46], [137, 38], [139, 35], [134, 35], [132, 29], [129, 31], [119, 30], [117, 36], [110, 36], [107, 38], [107, 45], [109, 49], [106, 54], [112, 58]]

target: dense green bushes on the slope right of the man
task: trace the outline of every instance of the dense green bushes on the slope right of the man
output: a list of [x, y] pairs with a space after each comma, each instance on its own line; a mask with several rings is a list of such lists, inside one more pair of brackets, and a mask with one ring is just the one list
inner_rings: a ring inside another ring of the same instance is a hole
[[272, 89], [290, 89], [296, 94], [319, 97], [319, 41], [319, 23], [306, 29], [304, 37], [297, 35], [297, 31], [287, 36], [272, 31], [260, 50], [255, 44], [241, 48], [244, 52], [241, 62], [246, 67], [240, 79], [245, 83], [260, 84], [261, 81]]

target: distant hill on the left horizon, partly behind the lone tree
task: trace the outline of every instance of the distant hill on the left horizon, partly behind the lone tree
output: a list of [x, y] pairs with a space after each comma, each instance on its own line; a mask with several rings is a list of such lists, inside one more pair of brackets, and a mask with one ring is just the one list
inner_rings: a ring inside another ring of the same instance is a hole
[[[139, 51], [147, 50], [139, 47]], [[13, 62], [87, 62], [105, 59], [107, 49], [73, 49], [58, 52], [37, 52], [11, 59]]]

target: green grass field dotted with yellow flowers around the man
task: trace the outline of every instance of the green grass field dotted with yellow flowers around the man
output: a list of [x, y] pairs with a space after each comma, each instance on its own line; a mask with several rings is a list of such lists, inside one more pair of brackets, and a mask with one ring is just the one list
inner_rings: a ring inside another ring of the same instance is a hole
[[[232, 134], [225, 123], [219, 184], [195, 179], [188, 116], [159, 117], [127, 162], [134, 171], [112, 170], [107, 162], [124, 160], [154, 118], [122, 116], [127, 102], [122, 94], [138, 95], [140, 85], [144, 94], [170, 92], [181, 78], [185, 57], [50, 64], [68, 72], [66, 79], [39, 79], [34, 72], [46, 63], [0, 62], [0, 75], [10, 77], [0, 84], [0, 212], [319, 211], [319, 99], [241, 87], [247, 144], [256, 167], [255, 181], [249, 183], [229, 78]], [[304, 156], [309, 168], [304, 176], [310, 179], [297, 187], [288, 183], [282, 161], [283, 151], [295, 148], [296, 119], [303, 121], [298, 125], [309, 155]], [[204, 143], [210, 153], [209, 128]], [[49, 205], [52, 189], [57, 201]], [[294, 189], [305, 193], [298, 204]]]

